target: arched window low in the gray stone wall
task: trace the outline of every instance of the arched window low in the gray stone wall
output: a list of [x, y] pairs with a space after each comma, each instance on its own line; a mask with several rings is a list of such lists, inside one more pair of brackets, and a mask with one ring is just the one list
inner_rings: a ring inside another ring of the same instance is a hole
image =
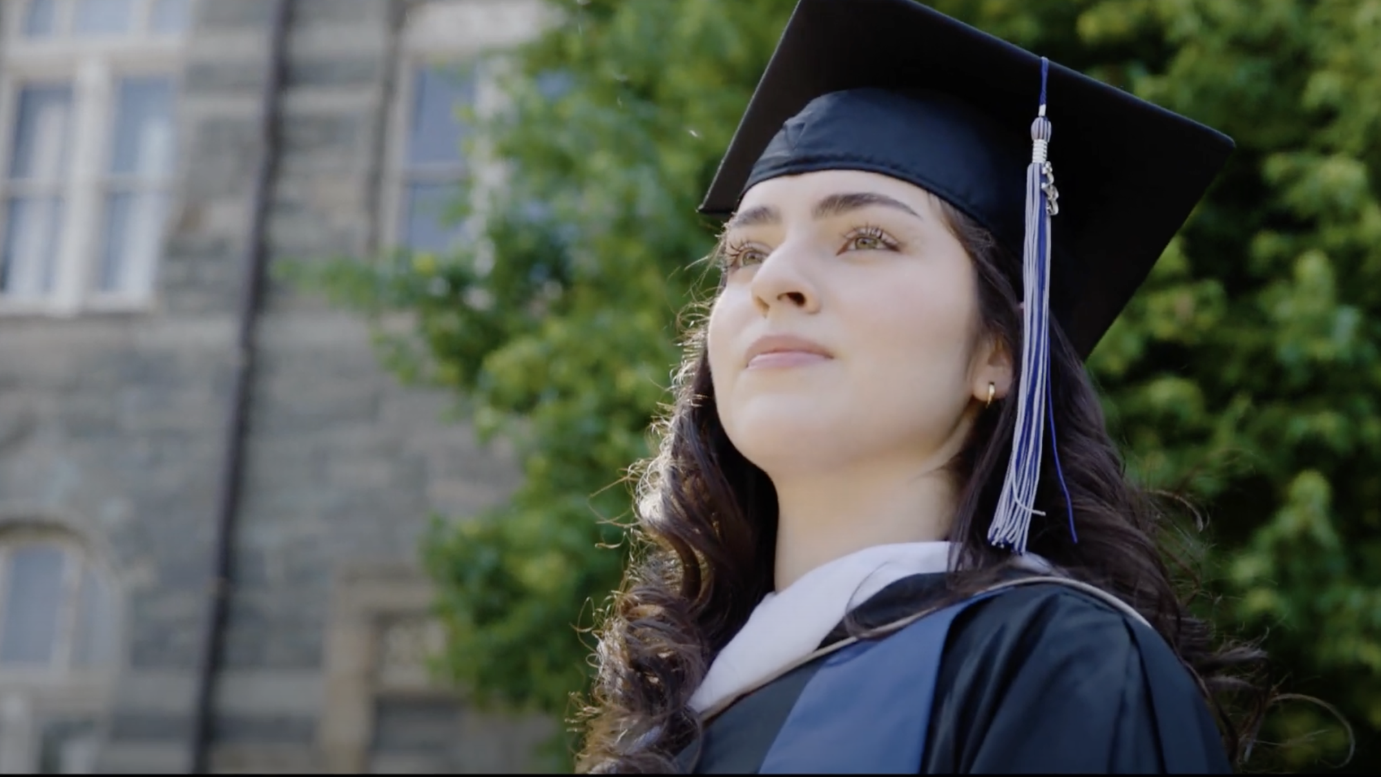
[[116, 626], [110, 579], [80, 542], [0, 531], [0, 774], [94, 770]]

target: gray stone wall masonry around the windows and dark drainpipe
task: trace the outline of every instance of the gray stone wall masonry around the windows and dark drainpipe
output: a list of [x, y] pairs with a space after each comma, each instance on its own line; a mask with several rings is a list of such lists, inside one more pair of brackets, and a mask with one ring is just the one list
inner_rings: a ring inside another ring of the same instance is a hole
[[[102, 771], [189, 766], [271, 11], [271, 0], [199, 3], [156, 308], [0, 318], [0, 521], [70, 527], [120, 589]], [[293, 3], [271, 263], [377, 247], [398, 11], [395, 0]], [[265, 303], [213, 755], [222, 770], [319, 770], [340, 571], [414, 565], [428, 513], [494, 503], [514, 469], [465, 424], [438, 423], [449, 398], [385, 375], [358, 318], [276, 282]], [[525, 741], [545, 731], [526, 730]], [[504, 734], [476, 737], [493, 751]], [[504, 752], [483, 763], [519, 766], [521, 752]]]

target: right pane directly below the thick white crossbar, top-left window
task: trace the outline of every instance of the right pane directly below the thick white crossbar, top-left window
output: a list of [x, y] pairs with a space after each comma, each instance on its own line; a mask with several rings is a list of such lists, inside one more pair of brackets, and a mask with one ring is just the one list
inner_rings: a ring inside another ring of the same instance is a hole
[[173, 173], [173, 80], [123, 79], [115, 118], [110, 173], [163, 177]]

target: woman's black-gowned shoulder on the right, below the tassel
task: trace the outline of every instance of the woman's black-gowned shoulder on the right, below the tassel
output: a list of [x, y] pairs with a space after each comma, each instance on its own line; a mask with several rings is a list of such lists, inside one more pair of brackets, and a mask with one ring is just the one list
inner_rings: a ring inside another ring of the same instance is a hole
[[936, 770], [1228, 770], [1199, 684], [1166, 640], [1062, 583], [1003, 590], [956, 618], [936, 704]]

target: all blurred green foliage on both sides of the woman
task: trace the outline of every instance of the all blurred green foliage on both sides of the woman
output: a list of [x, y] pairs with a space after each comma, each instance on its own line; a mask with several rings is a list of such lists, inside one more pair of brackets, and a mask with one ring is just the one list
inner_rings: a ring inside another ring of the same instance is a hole
[[[1134, 476], [1211, 517], [1219, 625], [1269, 633], [1286, 687], [1356, 727], [1348, 769], [1381, 766], [1381, 0], [934, 4], [1237, 140], [1090, 369]], [[573, 626], [624, 563], [619, 481], [668, 398], [678, 312], [706, 293], [695, 206], [793, 1], [550, 6], [504, 58], [508, 104], [475, 118], [476, 158], [501, 162], [476, 173], [501, 185], [458, 198], [476, 239], [309, 282], [406, 314], [377, 328], [385, 362], [515, 441], [512, 500], [436, 520], [425, 560], [449, 676], [562, 715], [588, 669]], [[1266, 738], [1297, 745], [1288, 769], [1345, 751], [1304, 704]]]

